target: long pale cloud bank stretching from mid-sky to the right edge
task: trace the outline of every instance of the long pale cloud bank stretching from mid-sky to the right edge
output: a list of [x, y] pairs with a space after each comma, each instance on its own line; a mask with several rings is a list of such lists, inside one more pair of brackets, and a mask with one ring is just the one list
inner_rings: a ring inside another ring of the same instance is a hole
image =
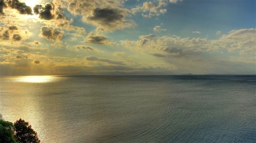
[[207, 38], [181, 38], [178, 36], [158, 36], [155, 34], [139, 36], [139, 40], [122, 40], [121, 45], [132, 51], [166, 53], [169, 55], [194, 55], [199, 53], [222, 52], [239, 53], [242, 56], [255, 57], [256, 55], [256, 29], [232, 30], [217, 40]]

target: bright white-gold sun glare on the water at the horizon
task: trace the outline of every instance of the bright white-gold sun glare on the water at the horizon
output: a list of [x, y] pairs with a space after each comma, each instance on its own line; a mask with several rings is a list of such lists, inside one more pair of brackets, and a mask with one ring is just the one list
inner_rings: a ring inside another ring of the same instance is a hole
[[20, 78], [20, 81], [29, 83], [46, 83], [52, 82], [53, 79], [53, 76], [23, 76]]

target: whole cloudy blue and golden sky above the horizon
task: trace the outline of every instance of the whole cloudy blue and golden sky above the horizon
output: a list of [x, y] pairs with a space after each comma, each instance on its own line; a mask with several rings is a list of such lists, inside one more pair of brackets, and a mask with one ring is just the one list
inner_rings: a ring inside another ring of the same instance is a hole
[[0, 0], [0, 75], [256, 74], [255, 0]]

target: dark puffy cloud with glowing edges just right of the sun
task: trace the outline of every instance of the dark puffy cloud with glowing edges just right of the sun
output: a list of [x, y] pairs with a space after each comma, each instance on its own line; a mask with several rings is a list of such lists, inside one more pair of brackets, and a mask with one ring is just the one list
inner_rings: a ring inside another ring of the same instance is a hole
[[64, 20], [65, 17], [63, 14], [59, 11], [58, 8], [53, 9], [53, 5], [51, 3], [46, 3], [43, 5], [35, 5], [33, 8], [33, 11], [35, 14], [39, 14], [40, 19], [44, 20]]

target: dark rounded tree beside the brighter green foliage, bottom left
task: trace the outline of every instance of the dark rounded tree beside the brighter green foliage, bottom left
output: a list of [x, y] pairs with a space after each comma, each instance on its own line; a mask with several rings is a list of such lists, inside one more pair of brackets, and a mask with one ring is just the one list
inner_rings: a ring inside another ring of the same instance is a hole
[[40, 143], [37, 132], [35, 132], [29, 122], [21, 118], [14, 123], [15, 138], [22, 143]]

